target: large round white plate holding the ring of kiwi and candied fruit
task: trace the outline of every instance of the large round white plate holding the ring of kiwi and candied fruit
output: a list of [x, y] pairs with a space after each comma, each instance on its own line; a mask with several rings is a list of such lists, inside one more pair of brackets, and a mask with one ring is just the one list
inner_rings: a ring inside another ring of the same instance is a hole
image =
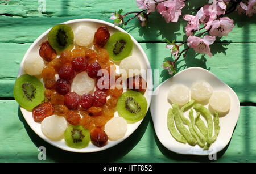
[[[112, 35], [115, 32], [121, 31], [121, 32], [125, 32], [127, 33], [125, 30], [123, 30], [122, 28], [118, 27], [118, 26], [114, 26], [114, 24], [112, 23], [108, 23], [102, 20], [97, 20], [97, 19], [76, 19], [76, 20], [69, 20], [67, 22], [64, 22], [64, 24], [68, 24], [73, 31], [75, 30], [75, 28], [77, 26], [79, 26], [80, 24], [86, 24], [87, 26], [93, 27], [95, 28], [95, 31], [97, 30], [97, 28], [99, 26], [105, 25], [108, 27], [110, 35]], [[40, 48], [40, 44], [43, 41], [47, 40], [48, 37], [48, 32], [51, 30], [48, 29], [46, 32], [44, 32], [41, 36], [38, 37], [38, 39], [36, 39], [34, 41], [34, 43], [30, 46], [30, 48], [27, 50], [25, 56], [23, 57], [22, 63], [20, 64], [20, 69], [19, 69], [19, 73], [18, 73], [18, 77], [22, 74], [24, 74], [24, 70], [23, 70], [23, 62], [26, 59], [26, 57], [31, 54], [31, 53], [39, 53], [39, 48]], [[151, 94], [152, 94], [152, 90], [150, 90], [150, 87], [152, 86], [152, 71], [151, 71], [151, 67], [150, 67], [150, 63], [148, 62], [147, 56], [144, 53], [143, 49], [141, 48], [141, 46], [138, 44], [138, 42], [131, 36], [131, 39], [133, 40], [133, 51], [131, 53], [131, 55], [133, 56], [137, 56], [139, 58], [139, 61], [141, 63], [141, 68], [144, 70], [147, 70], [147, 84], [148, 84], [148, 88], [146, 90], [146, 92], [144, 93], [144, 96], [147, 99], [147, 103], [148, 103], [148, 107], [150, 105], [151, 102]], [[117, 70], [118, 70], [118, 66], [117, 66]], [[125, 90], [124, 90], [125, 91]], [[39, 135], [39, 137], [41, 137], [42, 139], [44, 139], [45, 141], [47, 141], [48, 143], [50, 143], [53, 146], [56, 146], [58, 148], [61, 148], [63, 150], [67, 150], [67, 151], [72, 151], [72, 152], [95, 152], [95, 151], [101, 151], [101, 150], [105, 150], [106, 148], [110, 148], [113, 147], [115, 145], [117, 145], [118, 143], [122, 142], [124, 139], [126, 139], [127, 137], [129, 137], [129, 135], [131, 135], [137, 128], [138, 126], [141, 124], [142, 120], [135, 122], [134, 124], [128, 124], [128, 129], [127, 132], [125, 134], [125, 136], [121, 139], [118, 139], [117, 141], [108, 141], [108, 143], [103, 146], [103, 147], [97, 147], [94, 146], [92, 143], [89, 144], [89, 146], [82, 148], [82, 149], [76, 149], [76, 148], [71, 148], [69, 146], [67, 146], [65, 144], [64, 139], [62, 139], [61, 141], [51, 141], [50, 139], [48, 139], [41, 131], [41, 124], [37, 123], [33, 120], [32, 118], [32, 112], [28, 112], [26, 109], [20, 107], [20, 110], [22, 111], [22, 114], [25, 118], [25, 120], [27, 121], [28, 125], [30, 125], [31, 129], [35, 131], [36, 134]], [[118, 116], [118, 113], [115, 112], [115, 117]]]

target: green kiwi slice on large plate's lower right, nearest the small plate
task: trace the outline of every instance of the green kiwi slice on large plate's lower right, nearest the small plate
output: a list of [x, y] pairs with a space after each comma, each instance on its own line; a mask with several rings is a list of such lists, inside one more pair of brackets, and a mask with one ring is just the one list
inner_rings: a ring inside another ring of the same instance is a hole
[[117, 101], [117, 112], [127, 122], [137, 122], [147, 113], [147, 100], [141, 92], [126, 91]]

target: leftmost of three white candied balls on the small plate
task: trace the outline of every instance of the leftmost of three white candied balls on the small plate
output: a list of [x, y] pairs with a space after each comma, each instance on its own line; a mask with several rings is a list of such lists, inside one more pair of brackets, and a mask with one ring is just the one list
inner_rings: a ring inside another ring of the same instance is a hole
[[169, 88], [168, 99], [180, 106], [188, 103], [190, 99], [189, 88], [183, 84], [174, 84]]

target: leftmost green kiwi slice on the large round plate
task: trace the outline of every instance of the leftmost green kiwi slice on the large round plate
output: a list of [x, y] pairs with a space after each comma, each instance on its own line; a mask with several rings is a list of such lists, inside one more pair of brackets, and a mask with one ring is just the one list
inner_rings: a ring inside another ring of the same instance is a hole
[[44, 100], [44, 86], [35, 76], [23, 74], [16, 79], [13, 94], [22, 108], [32, 111]]

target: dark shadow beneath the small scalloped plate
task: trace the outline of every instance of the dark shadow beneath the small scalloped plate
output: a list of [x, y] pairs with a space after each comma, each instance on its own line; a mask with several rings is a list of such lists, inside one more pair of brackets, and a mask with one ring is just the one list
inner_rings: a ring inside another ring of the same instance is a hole
[[[152, 119], [150, 120], [150, 122], [152, 124]], [[236, 130], [236, 126], [235, 126], [234, 130]], [[233, 131], [233, 133], [234, 133], [234, 131]], [[232, 136], [233, 136], [233, 134], [232, 134]], [[213, 155], [177, 154], [175, 152], [168, 150], [166, 147], [164, 147], [162, 145], [162, 143], [159, 141], [155, 131], [154, 131], [154, 138], [155, 138], [156, 145], [158, 146], [160, 152], [162, 152], [162, 154], [164, 156], [166, 156], [168, 159], [176, 160], [177, 162], [204, 162], [204, 163], [205, 162], [218, 162], [218, 160], [221, 159], [221, 156], [225, 154], [225, 152], [228, 149], [229, 144], [230, 144], [230, 141], [229, 141], [228, 145], [226, 145], [226, 147], [223, 150], [221, 150], [220, 152], [217, 152], [217, 154], [216, 154], [217, 160], [214, 160], [215, 156], [213, 156]], [[212, 160], [210, 160], [209, 157], [212, 158]]]

